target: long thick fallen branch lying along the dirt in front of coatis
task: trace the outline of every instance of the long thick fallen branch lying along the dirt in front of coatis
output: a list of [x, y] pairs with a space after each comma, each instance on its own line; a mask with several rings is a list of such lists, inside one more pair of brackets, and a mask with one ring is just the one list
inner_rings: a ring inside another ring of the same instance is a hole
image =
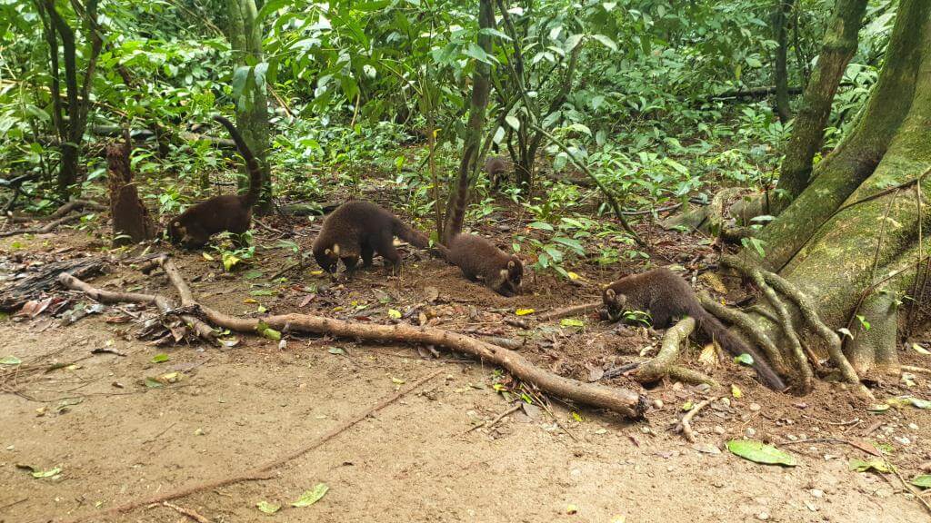
[[199, 307], [214, 325], [238, 332], [254, 332], [262, 322], [272, 329], [330, 334], [343, 338], [378, 342], [412, 342], [446, 347], [456, 352], [490, 361], [525, 382], [531, 382], [542, 391], [599, 409], [609, 409], [630, 418], [641, 418], [648, 405], [647, 398], [626, 389], [605, 387], [564, 378], [535, 367], [522, 355], [493, 343], [471, 338], [464, 334], [430, 327], [407, 324], [372, 325], [353, 323], [316, 315], [272, 315], [263, 318], [240, 318], [225, 315], [198, 304], [181, 273], [168, 257], [155, 258], [169, 276], [171, 284], [181, 296], [182, 306]]

